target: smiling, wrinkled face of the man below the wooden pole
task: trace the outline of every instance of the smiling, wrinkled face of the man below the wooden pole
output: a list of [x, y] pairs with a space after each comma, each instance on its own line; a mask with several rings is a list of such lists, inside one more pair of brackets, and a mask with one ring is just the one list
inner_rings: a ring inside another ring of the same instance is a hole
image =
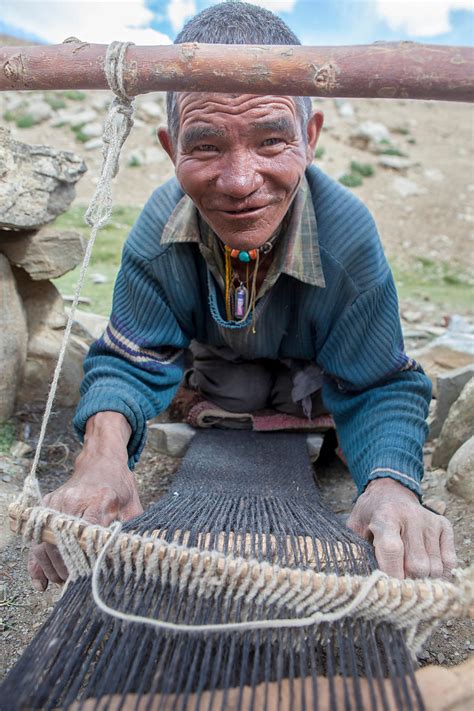
[[166, 131], [159, 137], [181, 187], [225, 244], [259, 247], [295, 196], [322, 115], [305, 139], [291, 97], [186, 93], [178, 107], [177, 145]]

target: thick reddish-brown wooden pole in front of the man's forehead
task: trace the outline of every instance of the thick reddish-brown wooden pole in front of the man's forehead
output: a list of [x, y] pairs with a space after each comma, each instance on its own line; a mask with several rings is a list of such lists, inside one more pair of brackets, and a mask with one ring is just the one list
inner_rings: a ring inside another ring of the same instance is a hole
[[[0, 91], [107, 89], [106, 45], [0, 48]], [[474, 101], [474, 49], [415, 42], [349, 47], [187, 43], [127, 50], [125, 86], [289, 96]]]

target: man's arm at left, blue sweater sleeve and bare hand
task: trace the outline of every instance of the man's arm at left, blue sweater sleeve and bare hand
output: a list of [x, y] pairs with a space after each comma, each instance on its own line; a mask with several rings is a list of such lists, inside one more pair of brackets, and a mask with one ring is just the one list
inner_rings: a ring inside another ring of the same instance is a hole
[[[189, 338], [157, 273], [156, 265], [125, 247], [112, 316], [84, 363], [74, 419], [84, 448], [69, 481], [44, 499], [51, 508], [104, 526], [141, 512], [130, 468], [143, 448], [147, 420], [166, 409], [183, 373]], [[44, 544], [34, 547], [29, 570], [39, 589], [48, 579], [67, 576], [56, 548]]]

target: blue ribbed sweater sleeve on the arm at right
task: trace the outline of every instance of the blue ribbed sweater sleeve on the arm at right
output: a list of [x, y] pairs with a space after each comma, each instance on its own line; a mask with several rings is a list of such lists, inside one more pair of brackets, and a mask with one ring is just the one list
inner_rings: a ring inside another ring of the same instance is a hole
[[431, 383], [404, 352], [390, 272], [360, 294], [329, 334], [318, 359], [323, 398], [362, 493], [390, 477], [421, 495]]

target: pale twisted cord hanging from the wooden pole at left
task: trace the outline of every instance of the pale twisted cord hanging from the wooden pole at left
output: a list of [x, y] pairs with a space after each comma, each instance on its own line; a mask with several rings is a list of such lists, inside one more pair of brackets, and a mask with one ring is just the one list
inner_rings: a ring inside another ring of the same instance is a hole
[[76, 313], [79, 296], [84, 285], [87, 268], [89, 266], [92, 249], [94, 247], [97, 232], [108, 222], [112, 213], [112, 179], [117, 175], [119, 169], [120, 151], [125, 143], [127, 136], [133, 126], [133, 99], [127, 94], [124, 85], [124, 68], [125, 55], [127, 49], [133, 42], [112, 42], [107, 47], [105, 55], [104, 71], [109, 83], [110, 89], [115, 93], [103, 129], [103, 161], [102, 169], [99, 177], [99, 182], [92, 196], [90, 205], [87, 209], [85, 219], [91, 227], [91, 234], [87, 243], [87, 248], [82, 261], [79, 280], [74, 292], [71, 310], [64, 330], [64, 336], [59, 351], [56, 368], [54, 370], [53, 379], [51, 382], [48, 399], [41, 422], [38, 444], [36, 445], [35, 456], [31, 466], [30, 473], [25, 479], [23, 491], [19, 498], [19, 505], [22, 508], [41, 503], [41, 491], [36, 476], [41, 448], [43, 446], [46, 428], [51, 416], [54, 398], [58, 388], [59, 377], [66, 355], [66, 349], [69, 343], [72, 324]]

